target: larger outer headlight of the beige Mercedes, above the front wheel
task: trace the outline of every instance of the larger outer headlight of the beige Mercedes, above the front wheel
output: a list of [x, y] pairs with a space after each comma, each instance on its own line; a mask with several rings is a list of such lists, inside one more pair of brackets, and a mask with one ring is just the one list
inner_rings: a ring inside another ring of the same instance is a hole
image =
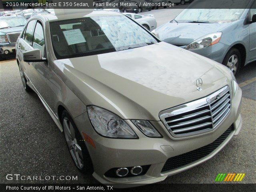
[[87, 107], [95, 131], [110, 138], [138, 138], [130, 126], [116, 114], [96, 106]]

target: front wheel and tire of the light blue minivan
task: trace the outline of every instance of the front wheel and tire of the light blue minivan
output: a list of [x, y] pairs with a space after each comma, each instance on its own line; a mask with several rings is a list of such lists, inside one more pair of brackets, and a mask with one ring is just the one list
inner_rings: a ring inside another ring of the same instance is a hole
[[232, 48], [226, 54], [222, 64], [230, 68], [236, 76], [241, 68], [241, 54], [238, 49]]

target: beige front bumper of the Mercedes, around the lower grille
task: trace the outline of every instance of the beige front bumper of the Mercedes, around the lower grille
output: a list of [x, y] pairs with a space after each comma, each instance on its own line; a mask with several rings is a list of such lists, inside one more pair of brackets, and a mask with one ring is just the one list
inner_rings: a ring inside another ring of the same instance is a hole
[[[133, 184], [129, 186], [137, 186], [160, 182], [167, 176], [177, 174], [212, 158], [228, 143], [234, 134], [239, 132], [242, 125], [242, 118], [240, 116], [241, 100], [242, 90], [238, 88], [232, 98], [230, 114], [215, 130], [187, 138], [173, 138], [160, 121], [152, 121], [151, 123], [158, 129], [163, 138], [148, 138], [135, 128], [130, 120], [126, 120], [139, 136], [139, 139], [111, 139], [99, 136], [92, 128], [87, 113], [78, 116], [74, 121], [81, 134], [82, 132], [88, 134], [96, 146], [96, 148], [93, 148], [85, 142], [94, 165], [93, 176], [99, 182], [105, 184]], [[209, 155], [174, 170], [161, 172], [169, 158], [214, 142], [232, 124], [234, 125], [234, 130]], [[124, 178], [110, 178], [104, 175], [111, 168], [143, 165], [150, 165], [150, 168], [144, 175]]]

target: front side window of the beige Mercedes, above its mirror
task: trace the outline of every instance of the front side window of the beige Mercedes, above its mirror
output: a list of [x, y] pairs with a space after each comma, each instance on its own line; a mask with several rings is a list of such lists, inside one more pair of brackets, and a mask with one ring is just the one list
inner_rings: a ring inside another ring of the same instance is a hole
[[44, 55], [44, 50], [45, 50], [44, 30], [40, 22], [36, 23], [32, 46], [35, 49], [40, 49], [42, 54]]

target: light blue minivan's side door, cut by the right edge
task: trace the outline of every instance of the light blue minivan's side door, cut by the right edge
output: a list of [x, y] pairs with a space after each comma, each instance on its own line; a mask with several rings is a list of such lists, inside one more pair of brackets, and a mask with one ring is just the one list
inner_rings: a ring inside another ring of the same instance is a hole
[[[256, 1], [254, 1], [254, 6], [256, 7]], [[250, 20], [252, 20], [252, 16], [256, 14], [256, 9], [250, 9], [249, 15]], [[249, 43], [249, 59], [248, 62], [256, 60], [256, 22], [249, 24], [250, 31], [250, 43]]]

